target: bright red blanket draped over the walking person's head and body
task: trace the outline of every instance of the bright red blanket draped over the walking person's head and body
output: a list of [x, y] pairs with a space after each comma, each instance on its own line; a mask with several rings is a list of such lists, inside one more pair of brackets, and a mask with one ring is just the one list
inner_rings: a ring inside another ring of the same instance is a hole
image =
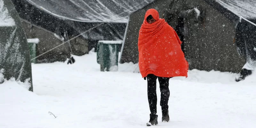
[[[149, 24], [146, 18], [152, 15], [156, 22]], [[188, 62], [181, 51], [175, 30], [159, 19], [155, 9], [149, 9], [139, 32], [139, 68], [142, 77], [154, 74], [159, 77], [188, 77]]]

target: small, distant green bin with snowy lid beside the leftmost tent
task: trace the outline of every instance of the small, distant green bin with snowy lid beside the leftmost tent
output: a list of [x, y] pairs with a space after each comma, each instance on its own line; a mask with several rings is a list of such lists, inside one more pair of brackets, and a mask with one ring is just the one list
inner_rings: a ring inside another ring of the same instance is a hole
[[[36, 46], [39, 43], [38, 38], [27, 39], [29, 46], [30, 60], [36, 57]], [[36, 63], [36, 59], [31, 60], [31, 63]]]

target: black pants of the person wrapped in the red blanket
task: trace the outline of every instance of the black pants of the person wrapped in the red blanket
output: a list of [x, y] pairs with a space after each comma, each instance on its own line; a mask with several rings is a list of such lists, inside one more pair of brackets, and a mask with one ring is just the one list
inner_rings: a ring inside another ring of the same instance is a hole
[[168, 110], [168, 100], [170, 97], [169, 91], [169, 77], [158, 77], [153, 74], [148, 74], [148, 104], [151, 114], [156, 114], [156, 79], [158, 78], [160, 84], [161, 100], [160, 106], [162, 111]]

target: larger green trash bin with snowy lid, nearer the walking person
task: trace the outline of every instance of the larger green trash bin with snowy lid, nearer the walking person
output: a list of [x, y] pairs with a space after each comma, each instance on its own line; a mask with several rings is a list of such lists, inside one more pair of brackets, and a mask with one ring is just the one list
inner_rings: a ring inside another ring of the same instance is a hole
[[118, 71], [118, 53], [122, 41], [102, 41], [97, 44], [97, 63], [100, 71]]

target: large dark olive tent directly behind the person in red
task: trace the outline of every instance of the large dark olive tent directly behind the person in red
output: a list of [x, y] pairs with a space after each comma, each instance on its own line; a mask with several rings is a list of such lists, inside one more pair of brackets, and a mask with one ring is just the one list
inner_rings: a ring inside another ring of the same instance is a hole
[[255, 4], [253, 0], [155, 0], [130, 15], [120, 62], [138, 62], [138, 31], [145, 12], [153, 7], [183, 41], [190, 69], [239, 72], [246, 60], [236, 50], [236, 27], [240, 17], [255, 19]]

